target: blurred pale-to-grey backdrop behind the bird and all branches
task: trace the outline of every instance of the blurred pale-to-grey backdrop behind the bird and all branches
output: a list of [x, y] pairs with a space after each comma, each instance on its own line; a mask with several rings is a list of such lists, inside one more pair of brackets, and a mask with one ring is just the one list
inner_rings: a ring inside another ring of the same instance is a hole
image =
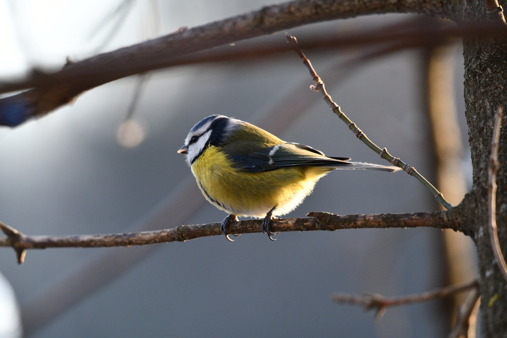
[[[22, 77], [34, 67], [56, 70], [67, 56], [81, 60], [267, 4], [0, 0], [0, 77]], [[343, 34], [415, 18], [368, 16], [289, 32]], [[283, 44], [284, 32], [269, 39]], [[360, 129], [458, 204], [472, 184], [459, 44], [357, 61], [367, 52], [305, 53]], [[311, 84], [295, 53], [173, 67], [105, 84], [41, 119], [1, 127], [0, 220], [32, 235], [221, 221], [226, 214], [195, 193], [190, 169], [176, 154], [190, 128], [212, 114], [257, 124], [329, 156], [385, 164], [331, 114]], [[403, 172], [350, 170], [322, 178], [287, 217], [432, 210], [439, 210], [433, 196]], [[375, 323], [373, 312], [335, 304], [331, 294], [403, 295], [475, 276], [472, 241], [436, 229], [32, 250], [22, 266], [12, 249], [2, 251], [2, 338], [20, 337], [22, 326], [24, 336], [37, 338], [444, 337], [459, 299], [389, 308]]]

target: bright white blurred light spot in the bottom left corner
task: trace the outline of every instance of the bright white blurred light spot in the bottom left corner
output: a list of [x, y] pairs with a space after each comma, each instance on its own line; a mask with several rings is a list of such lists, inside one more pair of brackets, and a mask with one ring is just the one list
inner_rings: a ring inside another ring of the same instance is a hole
[[0, 274], [0, 338], [21, 337], [18, 302], [9, 281]]

